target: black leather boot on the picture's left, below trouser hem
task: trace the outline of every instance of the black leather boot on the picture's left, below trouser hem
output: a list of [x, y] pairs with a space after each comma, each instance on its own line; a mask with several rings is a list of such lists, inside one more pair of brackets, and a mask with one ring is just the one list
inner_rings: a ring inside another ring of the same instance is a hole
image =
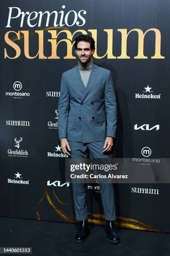
[[83, 243], [89, 235], [88, 219], [80, 220], [80, 228], [75, 235], [76, 243]]

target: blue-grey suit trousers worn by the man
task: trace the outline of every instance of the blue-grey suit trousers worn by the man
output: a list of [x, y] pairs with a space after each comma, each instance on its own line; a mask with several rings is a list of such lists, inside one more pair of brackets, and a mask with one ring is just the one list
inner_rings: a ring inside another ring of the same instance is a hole
[[[103, 154], [105, 141], [82, 143], [68, 141], [71, 148], [71, 158], [107, 158], [110, 159], [110, 153]], [[73, 198], [75, 205], [75, 215], [77, 220], [88, 218], [87, 205], [85, 201], [85, 183], [72, 183]], [[105, 213], [105, 220], [115, 220], [115, 198], [112, 183], [100, 183], [100, 194]]]

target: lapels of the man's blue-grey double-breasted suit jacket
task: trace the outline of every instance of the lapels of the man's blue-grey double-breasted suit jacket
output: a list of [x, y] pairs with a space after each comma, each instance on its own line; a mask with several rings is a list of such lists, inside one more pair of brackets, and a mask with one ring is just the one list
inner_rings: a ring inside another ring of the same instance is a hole
[[90, 77], [88, 79], [87, 86], [85, 87], [84, 83], [82, 82], [82, 78], [81, 78], [81, 75], [80, 75], [78, 65], [75, 66], [75, 72], [74, 72], [74, 74], [72, 74], [72, 76], [75, 79], [75, 82], [77, 83], [77, 86], [79, 87], [79, 89], [83, 93], [81, 101], [85, 98], [85, 96], [87, 95], [87, 93], [91, 89], [91, 87], [94, 84], [98, 74], [99, 74], [99, 71], [97, 71], [97, 66], [95, 64], [92, 64], [92, 70], [90, 72]]

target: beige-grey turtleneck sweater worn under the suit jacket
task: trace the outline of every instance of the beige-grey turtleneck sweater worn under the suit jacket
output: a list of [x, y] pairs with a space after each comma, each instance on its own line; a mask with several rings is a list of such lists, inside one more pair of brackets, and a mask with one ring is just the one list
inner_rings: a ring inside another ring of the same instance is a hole
[[[79, 71], [80, 71], [80, 76], [81, 76], [82, 82], [83, 82], [85, 87], [87, 86], [87, 82], [88, 82], [88, 79], [90, 77], [92, 64], [93, 64], [93, 62], [92, 62], [92, 59], [91, 59], [91, 61], [87, 64], [87, 66], [84, 67], [84, 65], [78, 60], [78, 68], [79, 68]], [[64, 140], [64, 139], [65, 138], [60, 138], [60, 141]]]

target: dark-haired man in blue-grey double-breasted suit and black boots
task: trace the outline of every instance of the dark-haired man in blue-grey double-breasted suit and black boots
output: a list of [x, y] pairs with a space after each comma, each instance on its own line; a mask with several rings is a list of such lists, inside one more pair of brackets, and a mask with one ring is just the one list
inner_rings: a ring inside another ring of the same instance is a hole
[[[62, 74], [58, 105], [58, 129], [62, 151], [71, 158], [110, 158], [115, 138], [117, 108], [112, 74], [93, 64], [95, 41], [89, 35], [75, 38], [78, 65]], [[70, 153], [68, 152], [70, 151]], [[85, 184], [73, 183], [76, 219], [80, 228], [77, 243], [89, 234]], [[119, 243], [113, 220], [116, 219], [114, 189], [111, 183], [100, 184], [110, 243]]]

